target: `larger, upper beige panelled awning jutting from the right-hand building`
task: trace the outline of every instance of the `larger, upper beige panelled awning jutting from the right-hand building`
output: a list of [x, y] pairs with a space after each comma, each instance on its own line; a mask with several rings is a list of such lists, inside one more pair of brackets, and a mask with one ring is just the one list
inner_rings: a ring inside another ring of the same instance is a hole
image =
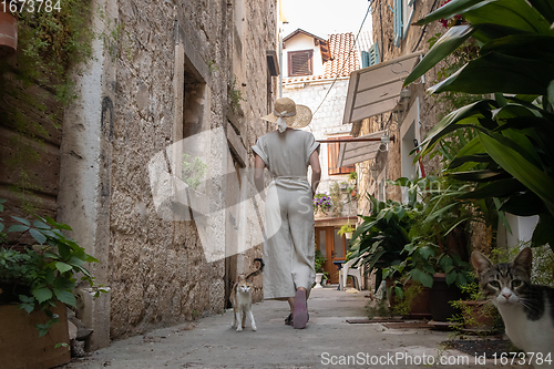
[[421, 55], [423, 52], [417, 51], [350, 73], [342, 124], [394, 109], [400, 100], [402, 83]]

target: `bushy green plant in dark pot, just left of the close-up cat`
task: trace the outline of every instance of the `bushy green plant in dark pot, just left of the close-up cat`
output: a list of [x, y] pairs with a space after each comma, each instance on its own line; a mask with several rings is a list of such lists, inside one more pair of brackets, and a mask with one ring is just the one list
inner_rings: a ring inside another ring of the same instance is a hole
[[414, 197], [421, 198], [421, 212], [416, 214], [409, 234], [411, 243], [404, 247], [408, 257], [396, 268], [430, 288], [432, 318], [447, 321], [459, 314], [449, 301], [460, 299], [460, 288], [472, 281], [465, 228], [475, 212], [468, 203], [458, 201], [469, 186], [443, 176], [400, 178], [392, 184], [407, 187], [412, 193], [410, 197], [417, 193]]

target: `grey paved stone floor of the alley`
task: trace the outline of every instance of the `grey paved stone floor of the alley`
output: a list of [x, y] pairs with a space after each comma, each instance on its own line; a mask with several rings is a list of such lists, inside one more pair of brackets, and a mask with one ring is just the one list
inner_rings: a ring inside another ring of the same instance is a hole
[[347, 322], [367, 318], [367, 295], [314, 289], [306, 329], [284, 325], [287, 303], [263, 301], [253, 307], [257, 331], [249, 321], [235, 331], [227, 311], [194, 321], [193, 329], [183, 324], [113, 341], [62, 368], [496, 368], [492, 360], [479, 363], [463, 352], [441, 350], [448, 332]]

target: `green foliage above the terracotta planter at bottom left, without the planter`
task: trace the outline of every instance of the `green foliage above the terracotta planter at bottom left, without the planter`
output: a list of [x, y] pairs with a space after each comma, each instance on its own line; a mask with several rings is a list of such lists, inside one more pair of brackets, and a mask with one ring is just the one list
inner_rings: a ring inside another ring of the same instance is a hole
[[[52, 324], [58, 321], [58, 317], [51, 311], [52, 307], [58, 303], [75, 306], [75, 275], [82, 275], [81, 281], [93, 287], [94, 278], [84, 265], [99, 260], [62, 233], [71, 230], [66, 224], [57, 223], [49, 216], [33, 217], [31, 222], [12, 216], [18, 224], [10, 226], [7, 234], [18, 236], [12, 244], [7, 244], [4, 239], [1, 245], [0, 281], [25, 288], [25, 293], [19, 295], [20, 308], [29, 314], [35, 308], [45, 312], [50, 320], [37, 326], [39, 336], [44, 336]], [[18, 240], [27, 234], [32, 236], [37, 244], [33, 248], [24, 247], [23, 253], [14, 250], [13, 247], [22, 246]], [[98, 294], [104, 291], [101, 287], [95, 287]]]

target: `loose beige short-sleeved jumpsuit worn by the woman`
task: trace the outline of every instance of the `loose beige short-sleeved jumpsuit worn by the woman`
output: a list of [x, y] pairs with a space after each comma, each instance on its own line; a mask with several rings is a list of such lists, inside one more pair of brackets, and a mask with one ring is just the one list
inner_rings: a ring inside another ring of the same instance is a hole
[[252, 147], [273, 181], [267, 188], [264, 224], [264, 298], [294, 297], [311, 288], [314, 208], [307, 180], [309, 157], [319, 143], [309, 132], [287, 130], [263, 135]]

